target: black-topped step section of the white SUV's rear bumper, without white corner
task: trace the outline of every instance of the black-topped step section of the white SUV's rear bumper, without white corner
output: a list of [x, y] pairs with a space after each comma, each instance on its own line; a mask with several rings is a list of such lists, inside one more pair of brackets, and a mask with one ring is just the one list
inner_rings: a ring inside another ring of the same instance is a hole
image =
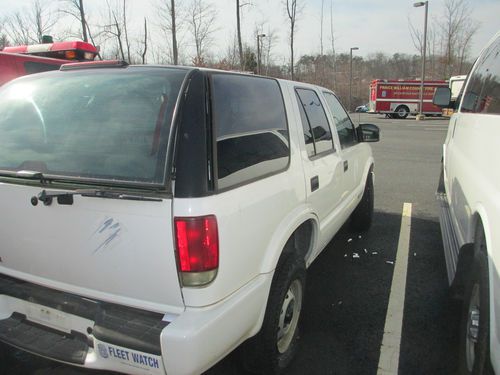
[[50, 359], [106, 369], [99, 358], [126, 355], [160, 371], [163, 317], [0, 274], [0, 341]]

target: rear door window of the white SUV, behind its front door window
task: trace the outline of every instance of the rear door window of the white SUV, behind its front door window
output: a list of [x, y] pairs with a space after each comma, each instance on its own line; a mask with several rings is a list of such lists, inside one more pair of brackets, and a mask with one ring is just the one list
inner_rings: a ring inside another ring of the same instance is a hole
[[304, 141], [309, 157], [334, 150], [332, 132], [318, 95], [309, 89], [295, 89], [299, 104]]

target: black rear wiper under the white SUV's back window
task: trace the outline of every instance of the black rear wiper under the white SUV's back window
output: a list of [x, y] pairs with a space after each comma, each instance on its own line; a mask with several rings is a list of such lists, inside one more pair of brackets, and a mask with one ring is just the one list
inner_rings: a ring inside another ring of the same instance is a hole
[[95, 197], [95, 198], [108, 198], [108, 199], [125, 199], [133, 201], [148, 201], [148, 202], [161, 202], [161, 198], [148, 197], [139, 194], [128, 194], [113, 190], [105, 189], [77, 189], [74, 191], [60, 191], [60, 190], [42, 190], [38, 195], [31, 197], [31, 204], [36, 206], [38, 201], [43, 202], [44, 205], [50, 206], [52, 201], [57, 199], [57, 203], [62, 205], [72, 205], [73, 197], [81, 195], [82, 197]]

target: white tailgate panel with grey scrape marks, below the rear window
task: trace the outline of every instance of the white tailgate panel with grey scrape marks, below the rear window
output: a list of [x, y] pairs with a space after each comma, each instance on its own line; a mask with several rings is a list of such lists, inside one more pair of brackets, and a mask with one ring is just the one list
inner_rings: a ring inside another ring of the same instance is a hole
[[183, 309], [171, 200], [31, 198], [42, 188], [0, 183], [0, 272], [90, 298], [160, 312]]

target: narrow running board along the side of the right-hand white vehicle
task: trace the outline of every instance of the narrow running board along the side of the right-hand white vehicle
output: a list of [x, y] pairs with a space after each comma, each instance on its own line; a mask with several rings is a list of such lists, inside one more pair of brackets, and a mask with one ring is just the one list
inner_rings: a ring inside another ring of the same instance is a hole
[[446, 193], [438, 191], [436, 193], [436, 199], [439, 203], [439, 224], [441, 226], [441, 236], [443, 237], [448, 284], [451, 285], [457, 270], [458, 252], [460, 247], [453, 229], [450, 206], [448, 204]]

